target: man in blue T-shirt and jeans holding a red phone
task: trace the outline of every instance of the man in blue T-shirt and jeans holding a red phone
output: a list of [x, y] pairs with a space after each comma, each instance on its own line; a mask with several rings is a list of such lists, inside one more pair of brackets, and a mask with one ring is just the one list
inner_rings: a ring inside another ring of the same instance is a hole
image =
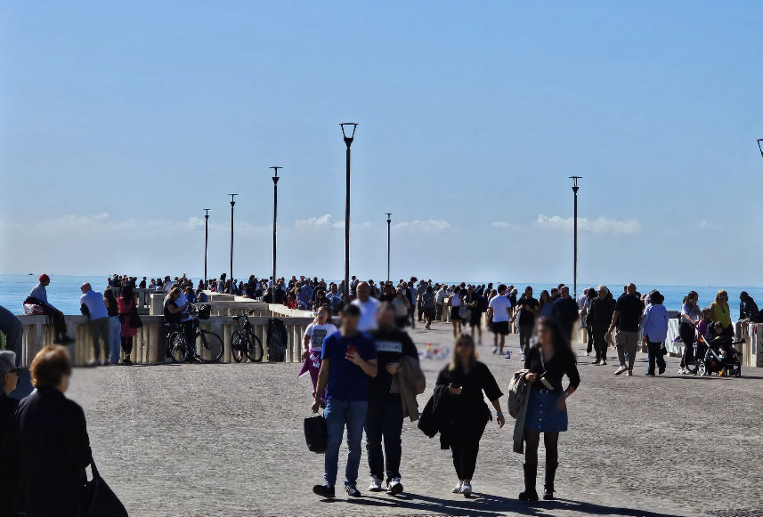
[[[368, 284], [366, 284], [368, 288]], [[313, 400], [313, 413], [321, 407], [321, 394], [326, 395], [326, 427], [329, 441], [323, 466], [323, 483], [313, 492], [322, 497], [334, 497], [337, 482], [339, 446], [347, 428], [347, 465], [345, 491], [350, 497], [361, 497], [356, 482], [361, 464], [361, 438], [368, 412], [369, 377], [377, 376], [377, 351], [373, 340], [358, 330], [361, 308], [354, 304], [342, 309], [339, 332], [326, 337], [321, 351], [321, 370]]]

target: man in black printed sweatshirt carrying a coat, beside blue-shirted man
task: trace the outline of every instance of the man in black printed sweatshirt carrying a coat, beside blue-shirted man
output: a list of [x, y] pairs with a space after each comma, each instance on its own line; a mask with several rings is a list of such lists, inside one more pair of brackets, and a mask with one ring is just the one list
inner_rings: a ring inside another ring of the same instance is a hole
[[403, 415], [401, 395], [390, 389], [393, 376], [400, 369], [401, 359], [407, 357], [418, 363], [418, 351], [410, 336], [395, 326], [395, 311], [391, 303], [377, 311], [377, 330], [373, 338], [377, 348], [378, 373], [369, 378], [369, 409], [365, 426], [371, 476], [369, 490], [382, 491], [386, 474], [386, 491], [396, 496], [402, 492], [400, 459]]

